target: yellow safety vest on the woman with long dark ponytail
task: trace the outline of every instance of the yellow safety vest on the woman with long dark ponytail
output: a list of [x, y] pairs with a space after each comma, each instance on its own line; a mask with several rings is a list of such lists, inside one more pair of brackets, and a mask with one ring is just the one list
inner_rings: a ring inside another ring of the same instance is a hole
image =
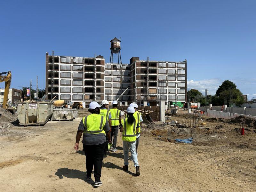
[[136, 126], [138, 121], [134, 118], [134, 122], [132, 124], [128, 124], [127, 120], [128, 118], [122, 119], [122, 126], [124, 127], [122, 139], [123, 141], [136, 141]]

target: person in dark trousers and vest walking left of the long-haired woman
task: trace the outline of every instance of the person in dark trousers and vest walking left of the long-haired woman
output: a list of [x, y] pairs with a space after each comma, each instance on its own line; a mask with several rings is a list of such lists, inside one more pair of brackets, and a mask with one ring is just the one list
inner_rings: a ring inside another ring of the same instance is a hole
[[[116, 141], [117, 141], [117, 134], [118, 134], [118, 129], [119, 125], [122, 124], [121, 122], [121, 111], [117, 108], [117, 101], [113, 101], [112, 103], [112, 108], [109, 110], [111, 113], [111, 140], [112, 142], [112, 148], [110, 150], [112, 152], [116, 152]], [[113, 140], [113, 135], [114, 135], [114, 140]]]

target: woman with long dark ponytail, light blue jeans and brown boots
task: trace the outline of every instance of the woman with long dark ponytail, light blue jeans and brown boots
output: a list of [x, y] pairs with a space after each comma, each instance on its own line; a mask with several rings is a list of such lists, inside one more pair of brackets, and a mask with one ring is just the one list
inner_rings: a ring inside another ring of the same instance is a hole
[[136, 154], [136, 133], [139, 131], [138, 120], [133, 117], [135, 110], [133, 107], [127, 108], [128, 117], [122, 119], [120, 132], [123, 133], [123, 148], [124, 148], [124, 166], [123, 170], [128, 171], [129, 149], [132, 155], [132, 161], [136, 169], [136, 175], [140, 175], [140, 166]]

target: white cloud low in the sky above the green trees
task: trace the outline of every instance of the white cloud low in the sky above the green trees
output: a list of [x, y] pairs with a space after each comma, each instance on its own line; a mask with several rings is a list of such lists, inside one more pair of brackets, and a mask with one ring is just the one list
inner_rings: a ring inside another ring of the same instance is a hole
[[205, 89], [209, 90], [209, 94], [215, 95], [216, 90], [222, 83], [221, 79], [204, 79], [200, 81], [188, 80], [188, 90], [197, 89], [201, 93], [205, 92]]

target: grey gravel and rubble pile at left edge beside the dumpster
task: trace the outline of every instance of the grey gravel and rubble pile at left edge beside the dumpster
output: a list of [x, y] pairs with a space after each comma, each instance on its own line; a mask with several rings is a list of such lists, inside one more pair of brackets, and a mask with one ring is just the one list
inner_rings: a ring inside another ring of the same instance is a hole
[[7, 130], [8, 127], [18, 125], [17, 115], [10, 113], [7, 109], [0, 108], [0, 136]]

